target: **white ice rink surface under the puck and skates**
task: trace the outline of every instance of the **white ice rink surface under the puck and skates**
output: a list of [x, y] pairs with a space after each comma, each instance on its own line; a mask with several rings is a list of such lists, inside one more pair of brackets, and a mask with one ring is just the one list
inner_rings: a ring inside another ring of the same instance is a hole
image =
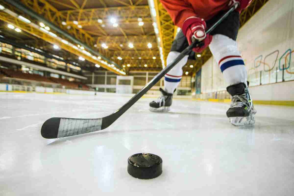
[[[48, 118], [100, 118], [130, 98], [0, 93], [0, 195], [293, 195], [293, 107], [255, 105], [255, 125], [238, 128], [225, 103], [175, 99], [152, 113], [141, 98], [106, 130], [41, 137]], [[161, 176], [128, 174], [141, 152], [163, 159]]]

